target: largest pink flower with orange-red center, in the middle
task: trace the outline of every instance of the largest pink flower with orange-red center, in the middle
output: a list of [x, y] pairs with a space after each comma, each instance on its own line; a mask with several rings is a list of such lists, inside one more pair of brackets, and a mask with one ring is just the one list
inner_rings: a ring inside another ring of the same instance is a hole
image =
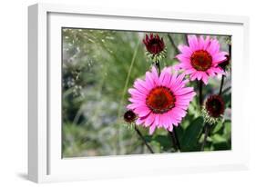
[[165, 67], [159, 75], [155, 67], [146, 73], [145, 80], [137, 79], [134, 88], [128, 89], [131, 103], [127, 108], [138, 115], [136, 123], [149, 127], [152, 134], [156, 127], [172, 131], [186, 115], [189, 102], [195, 92], [186, 87], [185, 74], [171, 74], [171, 68]]

